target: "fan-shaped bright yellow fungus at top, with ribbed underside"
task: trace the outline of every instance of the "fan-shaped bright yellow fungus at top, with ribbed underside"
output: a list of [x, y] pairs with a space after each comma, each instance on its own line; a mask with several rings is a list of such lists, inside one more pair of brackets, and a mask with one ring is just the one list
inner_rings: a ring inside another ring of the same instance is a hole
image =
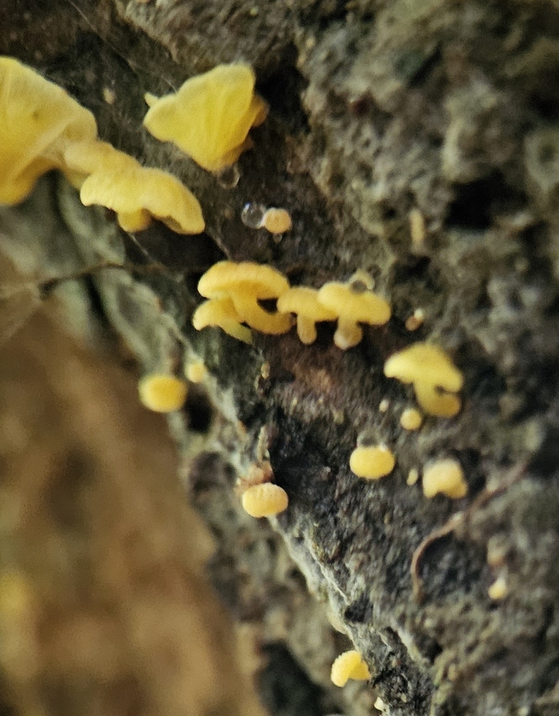
[[266, 119], [268, 107], [254, 94], [248, 64], [220, 64], [188, 79], [176, 94], [155, 100], [144, 125], [157, 139], [170, 141], [210, 172], [232, 165], [252, 146], [251, 127]]

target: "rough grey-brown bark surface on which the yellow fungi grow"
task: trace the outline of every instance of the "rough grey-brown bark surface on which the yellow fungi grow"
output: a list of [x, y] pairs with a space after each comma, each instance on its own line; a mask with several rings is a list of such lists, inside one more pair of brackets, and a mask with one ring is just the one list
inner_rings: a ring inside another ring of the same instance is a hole
[[[271, 712], [336, 705], [327, 664], [341, 647], [285, 568], [276, 531], [371, 669], [375, 692], [350, 691], [361, 695], [346, 699], [348, 713], [373, 713], [378, 693], [397, 716], [559, 714], [559, 5], [4, 0], [0, 26], [2, 53], [66, 87], [102, 138], [171, 170], [203, 205], [201, 237], [161, 226], [121, 236], [49, 178], [2, 213], [1, 236], [42, 281], [125, 255], [158, 267], [95, 272], [89, 288], [143, 369], [196, 354], [210, 370], [170, 427], [218, 541], [213, 582], [268, 642]], [[233, 59], [253, 64], [271, 115], [239, 160], [238, 185], [224, 188], [147, 135], [142, 95]], [[288, 208], [293, 230], [274, 241], [247, 228], [247, 201]], [[34, 226], [62, 217], [64, 251], [50, 251], [48, 227], [30, 238], [26, 213]], [[77, 263], [61, 264], [72, 251]], [[196, 334], [196, 283], [223, 256], [311, 286], [365, 269], [393, 317], [347, 352], [329, 325], [308, 347], [294, 332], [254, 347]], [[419, 307], [426, 318], [411, 333], [404, 323]], [[452, 354], [464, 405], [409, 433], [399, 415], [412, 393], [382, 367], [417, 339]], [[349, 470], [364, 428], [397, 455], [374, 483]], [[273, 531], [240, 514], [233, 492], [235, 470], [266, 451], [290, 500]], [[464, 500], [407, 485], [410, 469], [439, 456], [460, 460]], [[508, 586], [498, 602], [487, 595], [497, 576]]]

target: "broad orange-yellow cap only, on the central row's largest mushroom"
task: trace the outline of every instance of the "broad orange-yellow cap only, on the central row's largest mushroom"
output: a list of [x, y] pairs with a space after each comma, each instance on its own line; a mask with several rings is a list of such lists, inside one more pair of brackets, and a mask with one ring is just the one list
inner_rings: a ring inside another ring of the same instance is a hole
[[271, 266], [252, 261], [219, 261], [198, 281], [198, 292], [207, 299], [241, 291], [255, 299], [276, 299], [289, 289], [289, 281]]

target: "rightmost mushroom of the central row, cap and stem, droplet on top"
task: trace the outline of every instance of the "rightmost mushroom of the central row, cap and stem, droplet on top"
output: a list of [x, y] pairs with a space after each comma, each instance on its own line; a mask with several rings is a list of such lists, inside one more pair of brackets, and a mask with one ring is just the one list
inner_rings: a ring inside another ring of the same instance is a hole
[[359, 323], [381, 326], [390, 318], [387, 301], [371, 291], [361, 279], [352, 277], [346, 284], [331, 281], [319, 290], [319, 302], [336, 312], [338, 328], [334, 343], [342, 350], [356, 346], [363, 338]]

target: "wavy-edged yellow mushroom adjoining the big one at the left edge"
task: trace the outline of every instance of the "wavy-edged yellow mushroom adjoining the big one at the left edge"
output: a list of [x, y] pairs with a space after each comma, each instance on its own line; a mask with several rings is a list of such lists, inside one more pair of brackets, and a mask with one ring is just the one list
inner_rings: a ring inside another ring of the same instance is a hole
[[64, 153], [64, 160], [81, 183], [82, 203], [116, 211], [125, 231], [142, 231], [152, 218], [177, 233], [204, 230], [198, 200], [171, 174], [142, 167], [107, 142], [73, 144]]

